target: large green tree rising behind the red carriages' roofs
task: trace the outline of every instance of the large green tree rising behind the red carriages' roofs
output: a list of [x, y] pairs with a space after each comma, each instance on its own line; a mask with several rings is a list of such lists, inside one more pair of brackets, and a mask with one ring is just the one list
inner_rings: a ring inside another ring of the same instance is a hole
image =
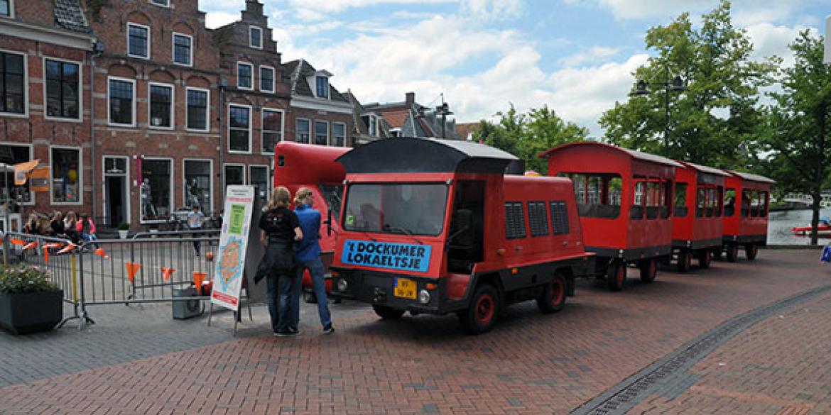
[[[730, 2], [703, 15], [700, 28], [692, 27], [687, 13], [666, 27], [650, 28], [646, 45], [656, 56], [633, 75], [647, 81], [651, 93], [602, 115], [607, 139], [672, 159], [730, 168], [746, 164], [748, 143], [760, 124], [759, 88], [773, 81], [776, 61], [750, 61], [753, 45], [745, 31], [733, 27]], [[674, 76], [685, 81], [686, 90], [669, 91], [666, 117], [666, 86]]]

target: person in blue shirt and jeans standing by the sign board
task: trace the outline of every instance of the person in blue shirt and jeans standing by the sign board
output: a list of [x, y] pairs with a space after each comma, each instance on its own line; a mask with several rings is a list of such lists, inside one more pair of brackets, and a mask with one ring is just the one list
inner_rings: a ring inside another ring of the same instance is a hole
[[303, 272], [309, 270], [312, 275], [312, 286], [317, 296], [317, 313], [320, 315], [320, 324], [324, 334], [332, 334], [332, 317], [329, 314], [329, 301], [326, 295], [326, 282], [323, 280], [323, 261], [320, 260], [320, 221], [321, 215], [312, 208], [314, 193], [310, 188], [299, 188], [294, 196], [296, 205], [294, 212], [300, 222], [303, 232], [302, 240], [295, 242], [294, 252], [297, 256], [297, 277], [294, 292], [292, 293], [292, 326], [297, 327], [300, 321], [300, 291], [302, 289]]

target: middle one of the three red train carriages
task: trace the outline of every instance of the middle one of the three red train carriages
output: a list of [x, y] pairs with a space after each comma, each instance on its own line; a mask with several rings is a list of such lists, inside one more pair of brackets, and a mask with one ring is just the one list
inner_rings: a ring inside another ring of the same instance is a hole
[[701, 268], [710, 266], [712, 253], [721, 249], [724, 221], [721, 212], [725, 178], [722, 170], [679, 161], [676, 168], [672, 216], [672, 249], [678, 271], [690, 269], [692, 257]]

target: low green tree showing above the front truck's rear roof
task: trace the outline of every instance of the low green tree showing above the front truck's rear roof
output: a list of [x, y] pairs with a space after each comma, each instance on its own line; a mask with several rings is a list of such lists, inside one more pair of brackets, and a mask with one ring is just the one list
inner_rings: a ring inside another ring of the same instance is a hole
[[499, 120], [482, 120], [474, 138], [484, 144], [502, 149], [525, 161], [525, 168], [540, 174], [548, 172], [548, 161], [537, 157], [541, 152], [572, 141], [583, 141], [588, 129], [565, 121], [554, 110], [542, 108], [520, 114], [511, 105], [506, 112], [496, 113]]

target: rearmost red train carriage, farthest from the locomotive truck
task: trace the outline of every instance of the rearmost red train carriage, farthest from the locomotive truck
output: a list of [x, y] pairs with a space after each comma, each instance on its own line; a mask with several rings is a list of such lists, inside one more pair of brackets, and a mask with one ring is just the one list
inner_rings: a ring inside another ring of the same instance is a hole
[[739, 246], [745, 247], [747, 259], [754, 260], [759, 247], [768, 242], [770, 187], [776, 182], [759, 174], [725, 171], [730, 173], [725, 180], [723, 237], [727, 261], [735, 261]]

